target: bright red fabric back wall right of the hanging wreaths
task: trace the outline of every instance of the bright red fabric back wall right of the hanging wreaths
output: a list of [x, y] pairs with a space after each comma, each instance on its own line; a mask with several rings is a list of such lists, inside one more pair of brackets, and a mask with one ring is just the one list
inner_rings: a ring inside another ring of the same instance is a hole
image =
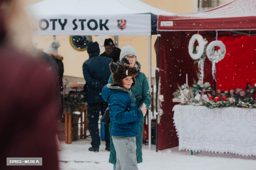
[[217, 63], [217, 89], [245, 89], [256, 83], [256, 36], [219, 37], [226, 46], [224, 59]]

